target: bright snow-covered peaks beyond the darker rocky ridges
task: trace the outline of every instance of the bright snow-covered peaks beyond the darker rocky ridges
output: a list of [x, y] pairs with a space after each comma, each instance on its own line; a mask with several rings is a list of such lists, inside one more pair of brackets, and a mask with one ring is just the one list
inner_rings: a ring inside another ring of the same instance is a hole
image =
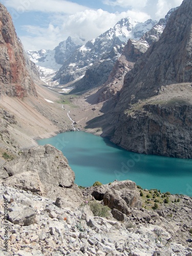
[[[44, 54], [39, 51], [27, 51], [27, 53], [31, 60], [39, 66], [41, 78], [49, 85], [67, 84], [82, 78], [86, 70], [96, 61], [100, 61], [102, 58], [113, 59], [114, 56], [107, 56], [113, 48], [115, 48], [115, 57], [120, 56], [122, 47], [129, 38], [140, 37], [156, 23], [153, 20], [138, 23], [137, 20], [126, 17], [119, 20], [113, 28], [89, 40], [86, 44], [82, 38], [68, 37], [66, 41], [60, 42], [53, 51], [47, 50]], [[63, 66], [61, 67], [61, 65]], [[59, 71], [56, 72], [58, 69]], [[54, 82], [49, 81], [50, 77], [54, 77]]]

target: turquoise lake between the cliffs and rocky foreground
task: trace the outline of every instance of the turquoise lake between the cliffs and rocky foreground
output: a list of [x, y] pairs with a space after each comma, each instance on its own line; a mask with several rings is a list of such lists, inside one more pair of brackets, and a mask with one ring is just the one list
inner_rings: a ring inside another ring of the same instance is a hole
[[62, 151], [75, 173], [77, 185], [129, 179], [142, 188], [192, 197], [192, 159], [129, 152], [108, 139], [81, 131], [61, 133], [37, 142]]

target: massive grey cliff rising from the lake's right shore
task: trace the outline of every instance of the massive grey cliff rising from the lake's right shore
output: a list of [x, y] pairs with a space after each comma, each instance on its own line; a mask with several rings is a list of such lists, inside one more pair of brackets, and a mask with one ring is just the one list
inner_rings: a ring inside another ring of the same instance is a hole
[[109, 115], [116, 144], [139, 153], [192, 157], [191, 25], [192, 1], [184, 0], [159, 41], [125, 75]]

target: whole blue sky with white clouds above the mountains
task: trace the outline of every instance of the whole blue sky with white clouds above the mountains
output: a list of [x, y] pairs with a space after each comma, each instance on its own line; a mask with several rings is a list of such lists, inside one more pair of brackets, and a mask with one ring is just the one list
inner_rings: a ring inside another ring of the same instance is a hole
[[182, 0], [2, 0], [26, 50], [54, 49], [68, 36], [92, 39], [123, 17], [159, 20]]

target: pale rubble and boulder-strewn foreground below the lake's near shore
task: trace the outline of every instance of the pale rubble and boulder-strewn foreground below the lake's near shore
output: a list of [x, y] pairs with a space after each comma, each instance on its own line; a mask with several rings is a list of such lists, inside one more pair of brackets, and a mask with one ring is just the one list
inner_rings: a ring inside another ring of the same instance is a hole
[[129, 180], [80, 189], [51, 145], [7, 162], [1, 175], [1, 256], [192, 255], [190, 197]]

